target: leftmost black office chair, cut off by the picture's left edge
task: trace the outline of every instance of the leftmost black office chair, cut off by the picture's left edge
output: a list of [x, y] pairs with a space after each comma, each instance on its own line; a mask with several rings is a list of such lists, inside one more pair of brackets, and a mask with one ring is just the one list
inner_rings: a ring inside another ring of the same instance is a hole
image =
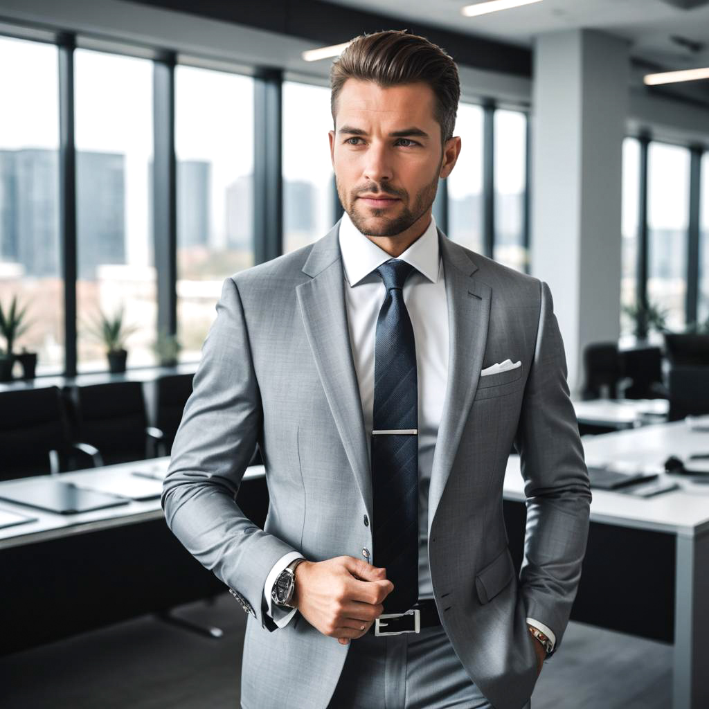
[[99, 462], [95, 448], [71, 441], [57, 386], [0, 392], [0, 480], [46, 475]]

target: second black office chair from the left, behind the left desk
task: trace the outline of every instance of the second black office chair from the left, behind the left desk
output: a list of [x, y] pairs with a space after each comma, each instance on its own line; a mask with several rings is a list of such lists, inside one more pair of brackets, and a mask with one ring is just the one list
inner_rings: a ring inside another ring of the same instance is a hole
[[75, 386], [77, 432], [99, 449], [104, 465], [154, 458], [164, 454], [162, 431], [147, 425], [140, 381]]

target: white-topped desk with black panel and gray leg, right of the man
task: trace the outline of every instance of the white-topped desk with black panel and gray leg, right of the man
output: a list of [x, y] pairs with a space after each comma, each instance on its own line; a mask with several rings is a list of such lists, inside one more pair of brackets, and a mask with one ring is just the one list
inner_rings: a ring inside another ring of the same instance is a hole
[[[677, 421], [584, 438], [587, 464], [637, 462], [659, 471], [669, 454], [709, 452], [709, 433]], [[709, 461], [707, 462], [709, 467]], [[666, 476], [681, 481], [679, 476]], [[673, 708], [709, 707], [709, 485], [654, 498], [593, 490], [591, 531], [571, 618], [674, 642]], [[520, 459], [504, 486], [510, 548], [525, 499]], [[514, 505], [514, 502], [517, 505]], [[518, 547], [516, 556], [521, 558]], [[612, 648], [609, 648], [612, 652]]]

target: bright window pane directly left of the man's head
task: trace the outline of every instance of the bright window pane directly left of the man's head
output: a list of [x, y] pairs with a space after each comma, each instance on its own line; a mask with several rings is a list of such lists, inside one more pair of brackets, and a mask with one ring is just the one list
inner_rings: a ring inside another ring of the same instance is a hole
[[330, 89], [283, 84], [283, 252], [325, 236], [335, 223], [335, 187], [328, 131]]

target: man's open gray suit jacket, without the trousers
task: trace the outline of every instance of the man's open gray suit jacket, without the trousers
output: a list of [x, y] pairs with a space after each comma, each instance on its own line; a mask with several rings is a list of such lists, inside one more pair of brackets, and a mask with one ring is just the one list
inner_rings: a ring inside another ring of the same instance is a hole
[[[338, 227], [225, 279], [162, 493], [172, 532], [251, 616], [241, 687], [249, 709], [324, 709], [350, 649], [300, 613], [282, 630], [267, 617], [264, 581], [279, 557], [361, 559], [367, 547], [376, 562], [363, 522], [372, 482]], [[432, 586], [471, 679], [496, 709], [520, 709], [537, 676], [525, 618], [551, 628], [557, 648], [569, 620], [588, 472], [549, 286], [440, 230], [439, 240], [450, 363], [428, 499]], [[480, 376], [508, 358], [521, 367]], [[257, 442], [270, 496], [264, 530], [234, 501]], [[513, 443], [527, 495], [519, 579], [502, 513]]]

